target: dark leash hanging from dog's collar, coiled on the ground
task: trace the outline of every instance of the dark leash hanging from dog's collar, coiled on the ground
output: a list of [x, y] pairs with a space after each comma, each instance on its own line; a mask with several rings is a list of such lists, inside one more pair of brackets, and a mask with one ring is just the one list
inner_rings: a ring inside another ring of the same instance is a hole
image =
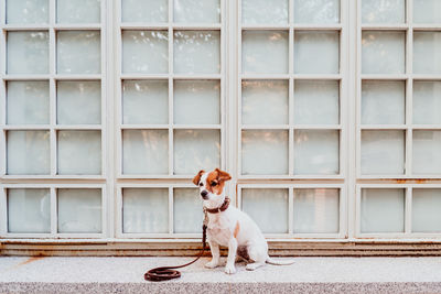
[[200, 254], [197, 255], [197, 258], [195, 260], [193, 260], [192, 262], [189, 262], [189, 263], [185, 263], [182, 265], [178, 265], [178, 266], [161, 266], [161, 268], [151, 269], [150, 271], [144, 273], [146, 281], [161, 282], [161, 281], [178, 279], [181, 276], [181, 272], [176, 271], [175, 269], [189, 266], [190, 264], [193, 264], [202, 257], [202, 254], [205, 251], [206, 228], [207, 228], [207, 221], [208, 221], [208, 216], [207, 216], [207, 213], [205, 211], [205, 209], [204, 209], [204, 213], [205, 213], [204, 225], [202, 225], [202, 250], [201, 250]]

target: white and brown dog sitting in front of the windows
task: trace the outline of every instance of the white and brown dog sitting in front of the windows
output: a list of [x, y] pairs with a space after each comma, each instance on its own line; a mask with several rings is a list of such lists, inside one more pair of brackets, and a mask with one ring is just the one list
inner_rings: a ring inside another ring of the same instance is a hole
[[208, 269], [219, 265], [219, 246], [228, 247], [225, 272], [236, 272], [236, 257], [247, 261], [246, 270], [254, 271], [265, 263], [287, 265], [293, 261], [276, 261], [268, 255], [268, 243], [252, 219], [233, 205], [225, 196], [224, 186], [232, 176], [219, 168], [206, 173], [200, 171], [193, 183], [200, 187], [204, 211], [208, 216], [207, 241], [212, 260], [205, 264]]

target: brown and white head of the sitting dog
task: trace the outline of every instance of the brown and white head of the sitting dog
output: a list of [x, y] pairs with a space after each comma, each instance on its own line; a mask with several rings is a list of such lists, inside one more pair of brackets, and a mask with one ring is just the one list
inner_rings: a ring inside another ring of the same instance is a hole
[[200, 187], [201, 197], [204, 200], [217, 200], [219, 196], [224, 195], [225, 182], [229, 179], [232, 179], [232, 176], [227, 172], [216, 168], [208, 173], [200, 171], [193, 178], [193, 183]]

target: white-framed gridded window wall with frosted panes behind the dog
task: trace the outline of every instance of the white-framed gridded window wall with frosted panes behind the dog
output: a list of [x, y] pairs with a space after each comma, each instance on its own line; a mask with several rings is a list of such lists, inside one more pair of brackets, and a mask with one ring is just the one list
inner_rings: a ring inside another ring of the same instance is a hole
[[[0, 238], [441, 237], [434, 0], [1, 0]], [[270, 221], [269, 221], [270, 220]]]

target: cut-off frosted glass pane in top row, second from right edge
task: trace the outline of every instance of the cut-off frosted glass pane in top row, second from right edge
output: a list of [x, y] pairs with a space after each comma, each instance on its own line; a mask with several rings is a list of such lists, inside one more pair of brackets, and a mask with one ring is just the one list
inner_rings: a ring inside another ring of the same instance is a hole
[[363, 0], [363, 23], [404, 23], [406, 0]]

